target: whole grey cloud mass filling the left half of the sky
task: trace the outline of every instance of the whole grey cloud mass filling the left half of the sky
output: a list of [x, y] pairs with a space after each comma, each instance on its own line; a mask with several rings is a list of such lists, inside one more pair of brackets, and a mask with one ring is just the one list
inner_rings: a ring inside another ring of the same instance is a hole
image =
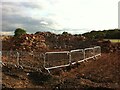
[[[18, 27], [25, 28], [32, 33], [52, 30], [56, 23], [52, 19], [41, 15], [44, 14], [42, 10], [43, 6], [35, 2], [3, 2], [2, 30], [14, 32]], [[39, 12], [37, 16], [35, 15], [36, 11]]]

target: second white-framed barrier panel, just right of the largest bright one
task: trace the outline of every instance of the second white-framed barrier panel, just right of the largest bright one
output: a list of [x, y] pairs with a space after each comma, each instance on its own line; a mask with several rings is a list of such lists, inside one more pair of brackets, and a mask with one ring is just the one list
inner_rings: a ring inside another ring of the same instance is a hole
[[84, 59], [84, 50], [83, 49], [77, 49], [77, 50], [71, 50], [71, 63], [75, 64], [76, 62], [79, 62]]

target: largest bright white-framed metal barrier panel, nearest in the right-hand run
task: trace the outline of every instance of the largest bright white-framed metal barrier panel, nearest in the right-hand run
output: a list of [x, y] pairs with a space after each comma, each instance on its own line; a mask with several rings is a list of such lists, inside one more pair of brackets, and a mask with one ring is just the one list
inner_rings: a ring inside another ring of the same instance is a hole
[[69, 64], [69, 52], [46, 52], [45, 54], [45, 68], [52, 69], [57, 67], [64, 67]]

